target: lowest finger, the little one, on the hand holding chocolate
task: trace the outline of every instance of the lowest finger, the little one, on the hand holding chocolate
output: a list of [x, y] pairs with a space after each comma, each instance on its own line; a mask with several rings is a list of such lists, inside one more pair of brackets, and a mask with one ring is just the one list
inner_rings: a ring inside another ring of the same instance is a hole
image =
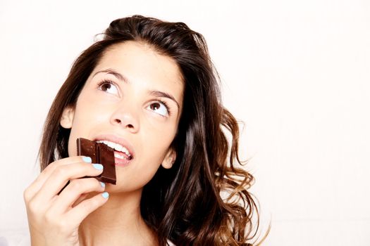
[[94, 197], [84, 200], [73, 209], [70, 209], [70, 211], [66, 213], [66, 216], [73, 219], [75, 223], [80, 223], [87, 215], [104, 205], [108, 199], [109, 193], [106, 192], [94, 195]]

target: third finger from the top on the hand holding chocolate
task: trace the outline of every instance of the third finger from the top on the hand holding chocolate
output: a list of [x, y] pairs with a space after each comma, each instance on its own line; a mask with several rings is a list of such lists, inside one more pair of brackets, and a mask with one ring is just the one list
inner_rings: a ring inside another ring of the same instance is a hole
[[104, 191], [104, 188], [105, 184], [94, 178], [74, 179], [70, 181], [63, 192], [58, 195], [58, 198], [56, 198], [50, 209], [54, 210], [57, 214], [62, 214], [73, 207], [75, 201], [78, 200], [82, 194], [94, 191], [101, 193]]

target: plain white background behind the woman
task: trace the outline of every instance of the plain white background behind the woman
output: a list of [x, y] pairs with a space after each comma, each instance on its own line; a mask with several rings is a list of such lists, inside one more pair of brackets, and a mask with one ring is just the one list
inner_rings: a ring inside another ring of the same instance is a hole
[[97, 2], [0, 1], [0, 238], [26, 235], [23, 190], [73, 60], [137, 13], [208, 41], [224, 103], [245, 122], [264, 245], [370, 245], [370, 1]]

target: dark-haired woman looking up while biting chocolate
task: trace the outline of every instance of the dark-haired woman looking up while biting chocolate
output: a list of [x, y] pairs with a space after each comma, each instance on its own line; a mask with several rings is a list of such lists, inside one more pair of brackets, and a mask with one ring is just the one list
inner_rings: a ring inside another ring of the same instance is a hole
[[[247, 245], [258, 211], [238, 136], [201, 34], [114, 20], [51, 105], [24, 193], [32, 245]], [[115, 148], [116, 186], [91, 178], [103, 167], [77, 156], [80, 137]]]

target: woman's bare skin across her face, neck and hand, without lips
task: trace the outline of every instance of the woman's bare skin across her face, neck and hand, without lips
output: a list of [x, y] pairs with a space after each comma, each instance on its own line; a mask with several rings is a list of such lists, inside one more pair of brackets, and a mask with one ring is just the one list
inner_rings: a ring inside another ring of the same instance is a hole
[[[111, 84], [99, 84], [104, 81]], [[25, 190], [32, 245], [156, 245], [140, 214], [142, 188], [160, 165], [172, 167], [182, 108], [183, 79], [174, 60], [135, 41], [109, 48], [75, 107], [63, 112], [61, 126], [71, 129], [70, 157], [49, 164]], [[128, 165], [116, 167], [116, 186], [78, 179], [101, 173], [76, 156], [76, 138], [97, 136], [125, 139], [135, 153]]]

